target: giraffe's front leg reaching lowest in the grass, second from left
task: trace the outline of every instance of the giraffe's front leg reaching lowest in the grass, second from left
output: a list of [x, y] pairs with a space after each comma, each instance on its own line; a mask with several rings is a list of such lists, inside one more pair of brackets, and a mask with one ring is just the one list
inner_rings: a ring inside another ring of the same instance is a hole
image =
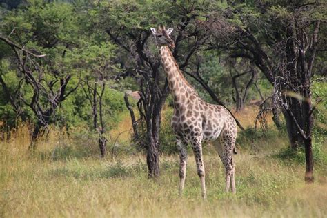
[[197, 175], [199, 175], [201, 180], [201, 190], [202, 197], [206, 199], [206, 181], [205, 181], [205, 172], [204, 172], [204, 161], [202, 156], [202, 139], [201, 137], [195, 137], [192, 141], [192, 150], [195, 155], [195, 163], [197, 164]]

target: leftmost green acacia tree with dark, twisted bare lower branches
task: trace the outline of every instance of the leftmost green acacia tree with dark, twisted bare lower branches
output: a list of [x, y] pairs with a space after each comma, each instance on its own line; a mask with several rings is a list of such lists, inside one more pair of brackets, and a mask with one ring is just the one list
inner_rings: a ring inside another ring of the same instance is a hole
[[2, 72], [1, 86], [14, 110], [29, 108], [37, 121], [32, 143], [53, 120], [57, 108], [78, 84], [69, 86], [72, 75], [64, 65], [66, 52], [76, 46], [77, 19], [68, 3], [32, 2], [8, 12], [3, 20], [0, 40], [11, 48], [6, 57], [17, 64], [18, 86], [8, 87]]

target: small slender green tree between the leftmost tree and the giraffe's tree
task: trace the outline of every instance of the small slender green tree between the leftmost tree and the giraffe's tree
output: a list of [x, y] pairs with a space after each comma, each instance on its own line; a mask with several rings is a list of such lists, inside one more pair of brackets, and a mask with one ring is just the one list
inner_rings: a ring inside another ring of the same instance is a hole
[[81, 88], [83, 88], [83, 92], [92, 108], [92, 128], [99, 135], [101, 157], [105, 157], [106, 142], [108, 140], [105, 137], [106, 124], [103, 115], [103, 97], [106, 86], [108, 86], [107, 81], [115, 79], [115, 72], [118, 72], [117, 66], [112, 61], [115, 46], [108, 42], [96, 43], [92, 39], [88, 40], [92, 41], [92, 43], [85, 42], [85, 46], [77, 52], [78, 54], [73, 55], [72, 62], [75, 68], [80, 71]]

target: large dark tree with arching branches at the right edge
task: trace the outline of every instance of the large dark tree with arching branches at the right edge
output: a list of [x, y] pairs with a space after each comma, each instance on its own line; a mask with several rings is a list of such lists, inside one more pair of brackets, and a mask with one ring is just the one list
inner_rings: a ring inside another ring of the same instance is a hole
[[306, 181], [313, 181], [310, 87], [321, 22], [326, 22], [324, 3], [278, 1], [234, 3], [205, 24], [217, 39], [212, 48], [250, 59], [274, 86], [273, 102], [286, 120], [290, 146], [304, 145]]

